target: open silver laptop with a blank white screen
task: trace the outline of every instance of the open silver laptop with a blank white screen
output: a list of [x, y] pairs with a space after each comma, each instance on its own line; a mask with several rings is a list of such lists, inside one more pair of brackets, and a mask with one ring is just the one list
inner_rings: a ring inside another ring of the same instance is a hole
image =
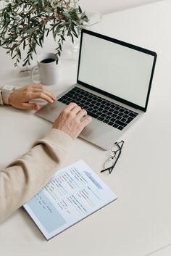
[[70, 102], [93, 117], [80, 137], [109, 149], [147, 110], [157, 54], [83, 29], [77, 83], [36, 114], [54, 122]]

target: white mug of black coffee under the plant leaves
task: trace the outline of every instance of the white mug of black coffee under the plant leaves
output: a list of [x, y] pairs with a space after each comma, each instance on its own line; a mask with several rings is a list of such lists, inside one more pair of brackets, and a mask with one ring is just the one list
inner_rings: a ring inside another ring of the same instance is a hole
[[[38, 65], [32, 68], [31, 70], [31, 79], [33, 83], [43, 83], [44, 85], [53, 85], [57, 83], [58, 78], [58, 68], [57, 63], [55, 62], [55, 54], [53, 53], [44, 53], [38, 55], [37, 58]], [[40, 80], [35, 80], [34, 73], [38, 69], [38, 74]]]

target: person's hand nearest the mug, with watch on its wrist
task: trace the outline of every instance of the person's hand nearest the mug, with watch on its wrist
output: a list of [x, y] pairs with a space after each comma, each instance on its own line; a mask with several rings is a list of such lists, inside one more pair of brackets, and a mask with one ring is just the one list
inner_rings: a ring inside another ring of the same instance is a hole
[[53, 103], [57, 98], [45, 86], [30, 85], [14, 90], [9, 95], [9, 104], [20, 110], [40, 110], [40, 104], [30, 102], [31, 99], [43, 99]]

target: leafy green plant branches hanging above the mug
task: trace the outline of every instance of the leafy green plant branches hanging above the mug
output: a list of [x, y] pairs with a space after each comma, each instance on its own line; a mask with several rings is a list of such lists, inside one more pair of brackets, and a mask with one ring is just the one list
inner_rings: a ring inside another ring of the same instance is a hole
[[[0, 0], [1, 1], [1, 0]], [[43, 47], [43, 40], [49, 33], [57, 41], [56, 62], [62, 52], [65, 37], [74, 42], [80, 27], [88, 22], [79, 0], [6, 0], [0, 10], [0, 46], [7, 49], [14, 65], [22, 59], [21, 48], [27, 50], [23, 66], [30, 65], [36, 46]]]

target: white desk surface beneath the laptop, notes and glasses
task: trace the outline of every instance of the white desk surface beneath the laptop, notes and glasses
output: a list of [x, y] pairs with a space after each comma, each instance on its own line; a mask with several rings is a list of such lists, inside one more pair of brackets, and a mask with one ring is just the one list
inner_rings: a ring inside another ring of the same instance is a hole
[[[158, 54], [148, 111], [122, 136], [125, 146], [114, 172], [110, 176], [99, 173], [107, 152], [82, 139], [75, 141], [63, 164], [82, 158], [118, 199], [48, 242], [25, 211], [17, 210], [0, 225], [1, 255], [171, 255], [170, 10], [171, 1], [161, 1], [106, 15], [93, 28]], [[1, 82], [30, 83], [28, 76], [14, 70], [2, 49], [0, 54]], [[61, 80], [51, 90], [59, 94], [72, 85], [76, 66], [74, 61], [62, 60]], [[0, 118], [0, 168], [27, 152], [51, 128], [33, 112], [12, 107], [1, 107]]]

